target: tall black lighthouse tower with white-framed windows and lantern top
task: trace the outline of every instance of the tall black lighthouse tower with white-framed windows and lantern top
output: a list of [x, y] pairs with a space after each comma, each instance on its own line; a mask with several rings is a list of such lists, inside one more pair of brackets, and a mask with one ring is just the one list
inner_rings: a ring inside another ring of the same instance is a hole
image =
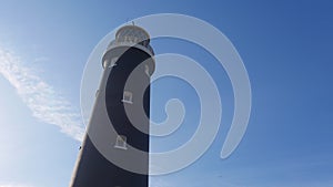
[[[118, 30], [103, 58], [103, 75], [70, 187], [148, 187], [150, 37]], [[133, 169], [131, 169], [133, 168]]]

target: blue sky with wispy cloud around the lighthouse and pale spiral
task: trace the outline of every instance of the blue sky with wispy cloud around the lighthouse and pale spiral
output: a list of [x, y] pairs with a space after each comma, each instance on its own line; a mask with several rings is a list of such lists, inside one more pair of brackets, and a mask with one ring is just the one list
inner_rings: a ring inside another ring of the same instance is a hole
[[[221, 66], [205, 65], [221, 92], [223, 126], [196, 163], [151, 177], [151, 186], [333, 186], [332, 9], [324, 0], [1, 1], [0, 187], [68, 186], [83, 128], [80, 82], [89, 54], [127, 20], [165, 12], [208, 21], [231, 40], [250, 76], [252, 113], [242, 143], [221, 159], [232, 87]], [[182, 41], [152, 46], [214, 61]], [[171, 89], [178, 92], [165, 92]], [[152, 117], [163, 118], [163, 102], [173, 96], [189, 108], [184, 127], [153, 139], [155, 150], [179, 146], [195, 129], [195, 93], [172, 79], [153, 85]]]

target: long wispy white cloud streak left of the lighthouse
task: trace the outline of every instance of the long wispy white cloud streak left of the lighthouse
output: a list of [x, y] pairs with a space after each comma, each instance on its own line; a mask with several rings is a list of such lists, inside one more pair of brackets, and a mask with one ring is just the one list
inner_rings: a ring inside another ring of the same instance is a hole
[[84, 128], [79, 110], [38, 76], [33, 69], [24, 66], [18, 56], [2, 49], [0, 74], [17, 90], [36, 118], [57, 125], [62, 133], [82, 141]]

